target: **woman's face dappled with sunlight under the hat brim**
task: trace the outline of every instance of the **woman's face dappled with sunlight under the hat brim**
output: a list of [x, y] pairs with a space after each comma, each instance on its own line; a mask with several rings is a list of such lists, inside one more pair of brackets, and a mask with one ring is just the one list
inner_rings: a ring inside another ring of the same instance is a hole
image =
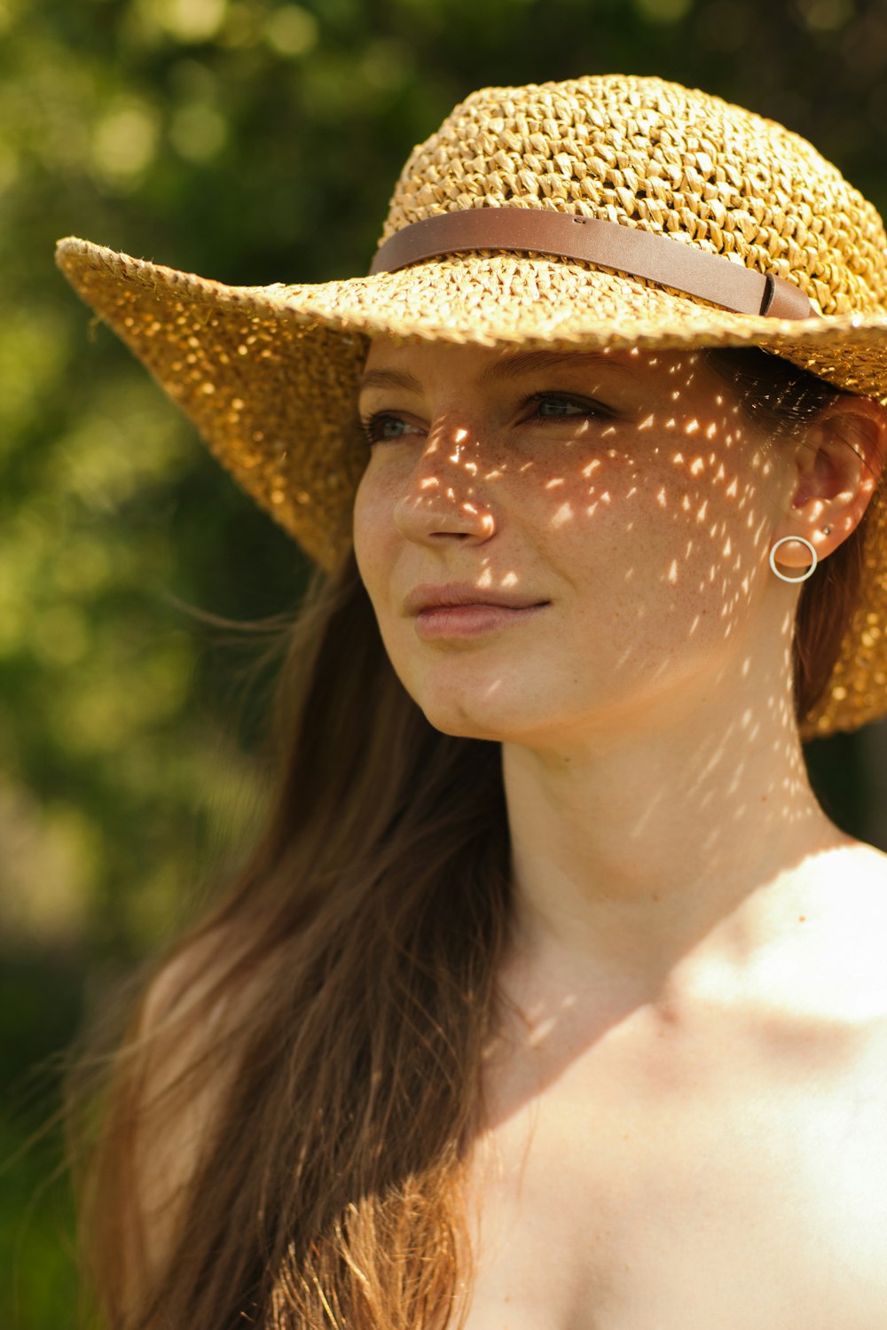
[[[622, 732], [753, 648], [791, 476], [698, 352], [379, 339], [359, 411], [358, 567], [438, 729]], [[528, 608], [416, 613], [453, 584]]]

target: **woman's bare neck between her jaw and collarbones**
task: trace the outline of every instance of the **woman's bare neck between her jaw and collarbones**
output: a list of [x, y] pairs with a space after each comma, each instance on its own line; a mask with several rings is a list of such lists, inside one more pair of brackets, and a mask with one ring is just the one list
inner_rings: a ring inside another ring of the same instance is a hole
[[817, 859], [856, 842], [810, 789], [790, 697], [765, 696], [697, 690], [668, 721], [503, 745], [520, 955], [650, 991], [750, 967], [797, 927]]

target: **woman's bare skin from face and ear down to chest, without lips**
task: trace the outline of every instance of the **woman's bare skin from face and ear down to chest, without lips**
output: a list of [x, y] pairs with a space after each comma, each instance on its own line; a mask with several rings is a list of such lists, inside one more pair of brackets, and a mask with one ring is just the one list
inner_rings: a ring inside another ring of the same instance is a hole
[[[692, 351], [366, 370], [360, 575], [430, 722], [501, 745], [511, 830], [465, 1330], [880, 1325], [887, 857], [810, 789], [769, 552], [854, 531], [883, 410], [767, 440]], [[428, 640], [404, 598], [448, 581], [548, 604]]]

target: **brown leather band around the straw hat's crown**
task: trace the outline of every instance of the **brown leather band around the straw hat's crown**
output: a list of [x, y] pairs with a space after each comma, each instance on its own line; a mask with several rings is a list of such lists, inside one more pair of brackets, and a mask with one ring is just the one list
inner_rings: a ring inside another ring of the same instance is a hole
[[379, 246], [370, 273], [391, 273], [460, 250], [532, 250], [646, 277], [737, 314], [817, 317], [803, 291], [782, 277], [707, 254], [670, 235], [537, 207], [468, 207], [412, 222]]

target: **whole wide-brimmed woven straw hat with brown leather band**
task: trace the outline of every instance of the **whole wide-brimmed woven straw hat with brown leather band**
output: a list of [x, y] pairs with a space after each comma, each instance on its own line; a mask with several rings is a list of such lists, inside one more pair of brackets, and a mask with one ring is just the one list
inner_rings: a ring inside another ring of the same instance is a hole
[[[660, 78], [472, 93], [400, 174], [366, 277], [226, 286], [60, 242], [65, 277], [307, 553], [350, 544], [368, 338], [592, 350], [759, 346], [887, 402], [887, 238], [803, 138]], [[887, 505], [802, 735], [887, 713]]]

